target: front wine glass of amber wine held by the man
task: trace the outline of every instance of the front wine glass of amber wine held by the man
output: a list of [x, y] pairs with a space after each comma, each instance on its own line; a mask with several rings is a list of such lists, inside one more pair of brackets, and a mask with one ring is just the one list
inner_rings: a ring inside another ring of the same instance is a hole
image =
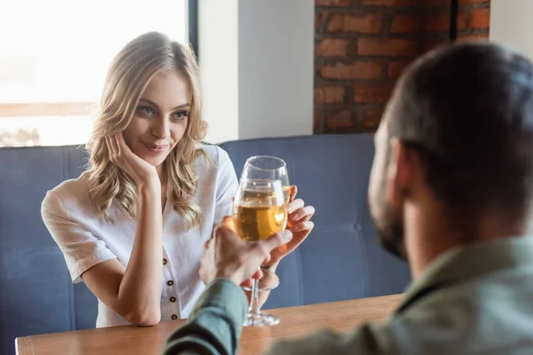
[[[252, 177], [256, 175], [250, 173]], [[287, 201], [280, 180], [241, 177], [234, 201], [235, 230], [243, 241], [261, 241], [287, 225]], [[259, 310], [259, 280], [253, 279], [244, 327], [274, 326], [279, 319]]]

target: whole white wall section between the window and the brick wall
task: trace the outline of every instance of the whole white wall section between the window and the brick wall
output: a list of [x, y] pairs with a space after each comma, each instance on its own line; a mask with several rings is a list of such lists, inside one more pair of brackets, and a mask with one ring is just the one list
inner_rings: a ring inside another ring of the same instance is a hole
[[314, 1], [201, 0], [199, 42], [210, 142], [313, 133]]

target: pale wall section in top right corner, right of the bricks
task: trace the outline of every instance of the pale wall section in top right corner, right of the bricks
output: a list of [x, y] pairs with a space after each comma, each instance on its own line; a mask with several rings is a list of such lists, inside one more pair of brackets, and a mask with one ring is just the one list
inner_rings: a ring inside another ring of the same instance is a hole
[[533, 59], [533, 1], [492, 0], [489, 38]]

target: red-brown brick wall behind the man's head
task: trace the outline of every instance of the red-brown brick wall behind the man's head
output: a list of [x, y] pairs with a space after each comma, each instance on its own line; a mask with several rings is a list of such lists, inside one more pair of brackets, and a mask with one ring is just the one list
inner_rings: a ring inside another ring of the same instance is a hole
[[[403, 68], [449, 42], [449, 0], [315, 0], [314, 133], [376, 130]], [[489, 0], [459, 0], [459, 40], [489, 37]]]

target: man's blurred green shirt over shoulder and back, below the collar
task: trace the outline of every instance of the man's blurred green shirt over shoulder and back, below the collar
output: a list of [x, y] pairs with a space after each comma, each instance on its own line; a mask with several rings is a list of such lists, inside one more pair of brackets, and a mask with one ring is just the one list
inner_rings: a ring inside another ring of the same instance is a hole
[[364, 323], [346, 333], [320, 330], [282, 340], [268, 354], [521, 351], [533, 323], [533, 286], [527, 282], [532, 278], [533, 267], [440, 288], [383, 323]]

